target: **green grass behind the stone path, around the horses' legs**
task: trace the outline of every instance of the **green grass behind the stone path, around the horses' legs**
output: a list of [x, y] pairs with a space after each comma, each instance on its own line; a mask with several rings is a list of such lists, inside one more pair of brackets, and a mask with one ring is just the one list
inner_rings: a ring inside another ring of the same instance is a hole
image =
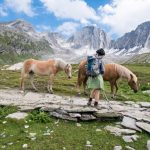
[[[133, 71], [140, 83], [140, 89], [137, 93], [134, 93], [126, 80], [121, 79], [119, 81], [119, 91], [116, 96], [116, 100], [126, 101], [150, 101], [150, 94], [143, 94], [143, 90], [150, 89], [150, 65], [126, 65], [131, 71]], [[64, 72], [60, 72], [56, 75], [54, 80], [54, 93], [59, 95], [77, 95], [76, 91], [76, 81], [77, 81], [77, 72], [74, 71], [77, 69], [77, 65], [73, 65], [73, 77], [72, 79], [67, 79], [67, 76]], [[0, 72], [0, 88], [19, 88], [19, 79], [20, 71], [6, 71], [3, 70]], [[47, 92], [47, 76], [35, 76], [35, 85], [38, 88], [39, 92]], [[26, 79], [25, 82], [26, 90], [33, 90], [29, 79]], [[108, 82], [105, 82], [105, 90], [109, 99], [110, 95], [110, 85]], [[81, 88], [81, 91], [83, 89]], [[89, 93], [89, 92], [88, 92]], [[83, 94], [81, 96], [84, 96]]]

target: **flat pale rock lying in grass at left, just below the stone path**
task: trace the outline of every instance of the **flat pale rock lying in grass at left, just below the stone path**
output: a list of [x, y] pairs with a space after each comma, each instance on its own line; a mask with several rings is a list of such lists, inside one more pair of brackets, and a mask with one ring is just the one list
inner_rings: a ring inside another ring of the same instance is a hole
[[25, 119], [28, 116], [27, 113], [24, 112], [15, 112], [12, 114], [9, 114], [8, 116], [6, 116], [6, 118], [12, 118], [12, 119]]

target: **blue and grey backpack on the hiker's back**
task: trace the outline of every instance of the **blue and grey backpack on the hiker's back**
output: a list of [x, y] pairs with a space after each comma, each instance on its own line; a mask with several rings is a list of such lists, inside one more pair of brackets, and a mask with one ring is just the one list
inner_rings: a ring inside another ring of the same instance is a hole
[[91, 77], [96, 77], [100, 74], [99, 62], [93, 56], [87, 57], [86, 73]]

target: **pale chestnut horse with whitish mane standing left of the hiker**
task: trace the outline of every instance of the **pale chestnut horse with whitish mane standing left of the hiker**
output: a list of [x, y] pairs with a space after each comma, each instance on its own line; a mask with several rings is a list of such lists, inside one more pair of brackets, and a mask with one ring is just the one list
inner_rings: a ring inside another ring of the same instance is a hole
[[55, 75], [59, 72], [64, 70], [67, 74], [68, 78], [71, 78], [72, 74], [72, 66], [70, 64], [67, 64], [61, 59], [49, 59], [47, 61], [40, 61], [35, 59], [27, 59], [25, 60], [21, 72], [21, 82], [20, 82], [20, 89], [24, 91], [24, 80], [29, 75], [30, 82], [32, 87], [37, 91], [37, 88], [35, 87], [33, 83], [33, 75], [48, 75], [49, 81], [47, 90], [50, 93], [53, 93], [52, 90], [52, 84]]

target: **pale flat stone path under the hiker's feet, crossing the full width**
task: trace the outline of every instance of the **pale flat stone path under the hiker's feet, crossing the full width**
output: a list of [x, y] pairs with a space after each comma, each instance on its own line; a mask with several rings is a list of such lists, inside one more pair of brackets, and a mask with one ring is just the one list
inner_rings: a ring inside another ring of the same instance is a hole
[[[17, 89], [0, 89], [0, 105], [14, 105], [20, 111], [28, 112], [40, 109], [51, 115], [68, 120], [119, 119], [129, 116], [139, 121], [150, 121], [150, 111], [146, 105], [136, 102], [101, 100], [97, 108], [87, 106], [87, 98], [59, 96], [49, 93], [22, 92]], [[108, 109], [109, 105], [112, 109]], [[65, 112], [65, 113], [64, 113]]]

